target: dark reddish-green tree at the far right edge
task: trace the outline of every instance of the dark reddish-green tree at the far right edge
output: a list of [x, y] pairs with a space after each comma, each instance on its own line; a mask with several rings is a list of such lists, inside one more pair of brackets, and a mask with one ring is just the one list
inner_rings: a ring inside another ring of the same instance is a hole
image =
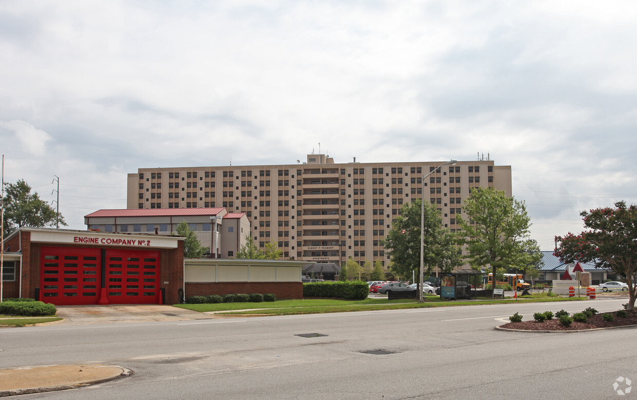
[[554, 255], [563, 262], [594, 262], [596, 268], [611, 269], [626, 280], [629, 300], [626, 310], [634, 310], [634, 276], [637, 273], [637, 206], [624, 201], [615, 208], [582, 211], [584, 227], [578, 235], [557, 236]]

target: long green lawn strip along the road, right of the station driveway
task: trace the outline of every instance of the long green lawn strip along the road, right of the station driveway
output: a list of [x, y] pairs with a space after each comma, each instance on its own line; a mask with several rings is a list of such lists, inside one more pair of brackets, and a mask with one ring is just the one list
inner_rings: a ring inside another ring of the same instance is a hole
[[[471, 301], [449, 301], [440, 297], [431, 297], [424, 303], [417, 303], [412, 299], [399, 299], [389, 301], [387, 299], [365, 299], [360, 301], [334, 300], [334, 299], [303, 299], [303, 300], [278, 300], [264, 303], [218, 303], [218, 304], [175, 304], [175, 307], [186, 308], [199, 312], [227, 311], [222, 315], [291, 315], [291, 314], [316, 314], [316, 313], [340, 313], [347, 311], [374, 311], [374, 310], [399, 310], [404, 308], [427, 308], [441, 306], [466, 306], [473, 304], [501, 304], [501, 303], [544, 303], [550, 301], [577, 301], [585, 300], [585, 297], [565, 298], [531, 298], [531, 299], [485, 299]], [[257, 309], [257, 310], [252, 310]], [[252, 310], [252, 311], [236, 311]]]

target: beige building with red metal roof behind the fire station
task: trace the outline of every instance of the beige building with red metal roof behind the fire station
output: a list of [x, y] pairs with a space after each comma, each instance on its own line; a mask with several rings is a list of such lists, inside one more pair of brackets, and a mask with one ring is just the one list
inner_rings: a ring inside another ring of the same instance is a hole
[[92, 231], [161, 235], [175, 234], [177, 225], [183, 221], [197, 234], [201, 244], [210, 249], [207, 255], [215, 255], [213, 258], [235, 257], [250, 232], [246, 213], [229, 213], [223, 207], [97, 210], [84, 217], [87, 229]]

